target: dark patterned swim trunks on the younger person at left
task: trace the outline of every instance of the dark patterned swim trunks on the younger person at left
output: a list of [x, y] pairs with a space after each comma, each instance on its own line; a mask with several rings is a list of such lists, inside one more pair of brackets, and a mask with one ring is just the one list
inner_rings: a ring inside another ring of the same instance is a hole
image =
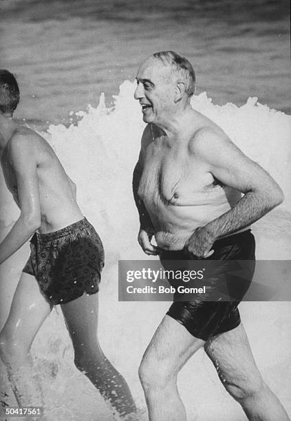
[[54, 233], [35, 233], [23, 272], [33, 275], [45, 299], [64, 304], [99, 290], [103, 244], [86, 218]]

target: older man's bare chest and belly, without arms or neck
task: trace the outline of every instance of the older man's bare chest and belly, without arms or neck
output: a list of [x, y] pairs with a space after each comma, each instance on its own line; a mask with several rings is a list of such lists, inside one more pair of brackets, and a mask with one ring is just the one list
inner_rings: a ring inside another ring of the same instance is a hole
[[[241, 198], [235, 188], [225, 186], [213, 177], [208, 166], [195, 154], [193, 125], [188, 138], [170, 139], [158, 127], [144, 131], [142, 177], [138, 195], [143, 200], [159, 247], [179, 250], [193, 230], [226, 213]], [[199, 136], [199, 133], [198, 133]]]

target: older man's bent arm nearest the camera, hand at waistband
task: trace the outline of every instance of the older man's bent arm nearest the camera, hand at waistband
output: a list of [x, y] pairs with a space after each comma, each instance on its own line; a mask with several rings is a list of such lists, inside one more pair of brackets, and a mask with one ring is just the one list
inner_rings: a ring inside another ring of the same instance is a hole
[[283, 192], [270, 174], [244, 155], [224, 132], [202, 129], [195, 153], [208, 165], [213, 177], [244, 193], [233, 208], [197, 228], [186, 241], [188, 251], [206, 257], [216, 239], [249, 226], [281, 204]]

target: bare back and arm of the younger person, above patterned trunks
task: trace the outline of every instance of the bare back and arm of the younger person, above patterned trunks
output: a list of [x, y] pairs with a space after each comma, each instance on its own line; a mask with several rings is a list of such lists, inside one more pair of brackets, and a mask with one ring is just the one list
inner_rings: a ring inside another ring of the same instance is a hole
[[0, 244], [0, 264], [39, 230], [50, 233], [83, 218], [76, 186], [47, 141], [0, 114], [0, 156], [6, 185], [20, 209]]

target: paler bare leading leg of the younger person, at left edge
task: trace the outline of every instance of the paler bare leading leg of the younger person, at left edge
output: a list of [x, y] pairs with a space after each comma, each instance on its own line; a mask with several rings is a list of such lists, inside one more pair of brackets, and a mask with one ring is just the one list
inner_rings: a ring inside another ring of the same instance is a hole
[[29, 352], [34, 336], [50, 312], [50, 304], [41, 295], [36, 279], [22, 273], [0, 334], [1, 359], [19, 407], [44, 404]]

